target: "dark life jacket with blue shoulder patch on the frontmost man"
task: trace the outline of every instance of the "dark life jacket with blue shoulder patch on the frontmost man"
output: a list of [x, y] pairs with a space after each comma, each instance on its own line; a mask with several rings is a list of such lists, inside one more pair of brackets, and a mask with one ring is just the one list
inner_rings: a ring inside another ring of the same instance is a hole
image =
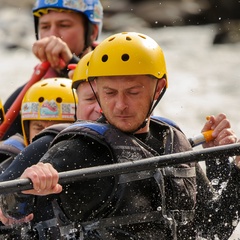
[[[191, 150], [184, 134], [177, 126], [172, 125], [174, 124], [169, 125], [156, 117], [151, 119], [150, 132], [162, 142], [162, 154]], [[133, 135], [125, 134], [108, 124], [90, 121], [79, 121], [70, 125], [58, 134], [52, 145], [61, 140], [81, 137], [90, 138], [107, 147], [115, 163], [159, 155]], [[97, 232], [101, 236], [100, 239], [115, 239], [111, 237], [114, 235], [114, 230], [109, 233], [106, 229], [121, 226], [120, 231], [126, 233], [126, 228], [130, 230], [136, 224], [149, 226], [149, 223], [160, 222], [165, 222], [171, 230], [172, 239], [177, 239], [177, 226], [193, 221], [196, 205], [194, 164], [120, 174], [114, 179], [111, 194], [103, 201], [100, 208], [92, 209], [93, 215], [89, 221], [73, 222], [64, 209], [66, 199], [60, 197], [61, 207], [54, 201], [62, 239], [68, 239], [69, 235], [73, 237], [73, 234], [78, 238], [72, 239], [84, 239], [84, 235], [89, 232]], [[152, 191], [155, 193], [154, 197]], [[66, 204], [71, 203], [66, 202]]]

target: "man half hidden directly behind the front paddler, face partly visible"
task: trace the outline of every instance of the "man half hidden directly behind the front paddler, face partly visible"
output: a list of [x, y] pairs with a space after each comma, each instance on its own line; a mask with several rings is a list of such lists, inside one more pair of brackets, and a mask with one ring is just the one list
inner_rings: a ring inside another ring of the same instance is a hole
[[[89, 84], [86, 83], [87, 63], [90, 59], [91, 54], [92, 52], [89, 52], [82, 57], [82, 59], [77, 64], [74, 75], [72, 76], [73, 80], [70, 81], [70, 79], [68, 79], [68, 82], [71, 82], [71, 85], [68, 84], [67, 88], [65, 88], [65, 91], [67, 91], [68, 95], [73, 94], [76, 90], [77, 95], [74, 95], [74, 97], [72, 96], [72, 98], [78, 99], [78, 110], [76, 112], [76, 115], [78, 119], [83, 120], [96, 120], [100, 117], [100, 108], [96, 101], [95, 95]], [[44, 83], [44, 81], [46, 80], [43, 80], [42, 82]], [[61, 95], [64, 96], [66, 94], [62, 92]], [[21, 152], [21, 154], [19, 154], [14, 159], [12, 164], [4, 171], [4, 173], [0, 175], [0, 181], [7, 181], [18, 178], [27, 167], [30, 167], [32, 164], [36, 164], [47, 151], [50, 143], [57, 135], [57, 133], [68, 125], [69, 124], [55, 124], [37, 134], [33, 138], [33, 141]], [[1, 215], [1, 213], [0, 218], [5, 225], [15, 224], [15, 226], [17, 226], [17, 228], [14, 228], [14, 231], [12, 228], [10, 228], [10, 230], [11, 232], [14, 232], [14, 236], [18, 234], [20, 239], [21, 237], [26, 237], [26, 235], [28, 235], [31, 236], [31, 238], [34, 237], [34, 239], [39, 238], [42, 240], [45, 238], [48, 239], [48, 237], [50, 237], [50, 234], [53, 235], [55, 239], [58, 232], [55, 231], [55, 226], [52, 223], [53, 221], [48, 221], [54, 217], [52, 214], [52, 207], [49, 205], [48, 199], [39, 197], [36, 201], [35, 209], [35, 218], [31, 222], [31, 228], [29, 228], [29, 225], [24, 224], [26, 220], [16, 221], [13, 219], [8, 219]], [[24, 211], [23, 208], [22, 211]], [[29, 216], [28, 220], [31, 221], [32, 216]], [[23, 229], [26, 228], [27, 231], [25, 231], [24, 236], [22, 236]], [[45, 228], [48, 229], [47, 234], [45, 233]]]

